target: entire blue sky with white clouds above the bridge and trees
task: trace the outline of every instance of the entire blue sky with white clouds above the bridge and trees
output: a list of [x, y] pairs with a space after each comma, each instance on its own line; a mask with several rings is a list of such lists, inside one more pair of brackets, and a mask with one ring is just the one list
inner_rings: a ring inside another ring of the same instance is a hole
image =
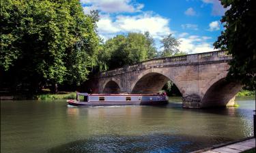
[[212, 44], [221, 35], [225, 9], [218, 0], [81, 0], [83, 11], [100, 12], [98, 34], [102, 39], [149, 31], [156, 48], [172, 34], [180, 50], [188, 54], [214, 51]]

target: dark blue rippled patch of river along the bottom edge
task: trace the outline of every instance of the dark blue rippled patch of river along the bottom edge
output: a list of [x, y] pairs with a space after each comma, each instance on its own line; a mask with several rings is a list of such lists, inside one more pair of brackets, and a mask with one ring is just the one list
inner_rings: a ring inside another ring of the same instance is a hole
[[[200, 138], [197, 138], [198, 140]], [[205, 145], [200, 141], [188, 141], [180, 136], [169, 134], [152, 135], [100, 135], [89, 139], [72, 141], [48, 150], [48, 153], [83, 153], [83, 152], [192, 152]], [[209, 145], [209, 144], [208, 144]], [[191, 147], [193, 146], [193, 147]]]

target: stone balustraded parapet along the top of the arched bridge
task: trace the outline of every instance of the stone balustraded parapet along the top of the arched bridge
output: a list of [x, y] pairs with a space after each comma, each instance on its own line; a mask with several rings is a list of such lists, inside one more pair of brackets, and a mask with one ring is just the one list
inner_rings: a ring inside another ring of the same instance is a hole
[[214, 51], [214, 52], [203, 52], [199, 54], [187, 54], [183, 56], [171, 56], [165, 58], [155, 58], [148, 61], [143, 61], [130, 66], [125, 66], [111, 71], [104, 71], [100, 73], [100, 78], [109, 77], [112, 75], [118, 75], [121, 73], [128, 73], [131, 71], [140, 71], [143, 69], [151, 69], [158, 67], [171, 67], [181, 65], [193, 65], [199, 63], [214, 63], [216, 61], [229, 61], [232, 56], [227, 51]]

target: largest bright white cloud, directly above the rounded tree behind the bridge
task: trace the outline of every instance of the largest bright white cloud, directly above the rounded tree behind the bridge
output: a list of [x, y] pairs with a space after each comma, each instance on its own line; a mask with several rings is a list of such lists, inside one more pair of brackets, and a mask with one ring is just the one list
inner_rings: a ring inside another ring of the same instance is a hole
[[169, 19], [151, 13], [137, 16], [115, 16], [115, 18], [104, 16], [98, 22], [98, 32], [104, 37], [117, 33], [144, 33], [145, 31], [149, 31], [155, 39], [160, 39], [172, 32], [169, 28]]

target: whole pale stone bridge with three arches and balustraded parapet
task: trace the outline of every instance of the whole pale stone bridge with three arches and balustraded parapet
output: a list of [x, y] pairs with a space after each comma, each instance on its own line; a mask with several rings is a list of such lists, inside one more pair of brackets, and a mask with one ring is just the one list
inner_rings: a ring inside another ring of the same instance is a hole
[[231, 104], [241, 88], [237, 82], [225, 81], [231, 58], [225, 51], [205, 52], [105, 71], [98, 78], [98, 92], [156, 93], [171, 80], [182, 93], [183, 107]]

